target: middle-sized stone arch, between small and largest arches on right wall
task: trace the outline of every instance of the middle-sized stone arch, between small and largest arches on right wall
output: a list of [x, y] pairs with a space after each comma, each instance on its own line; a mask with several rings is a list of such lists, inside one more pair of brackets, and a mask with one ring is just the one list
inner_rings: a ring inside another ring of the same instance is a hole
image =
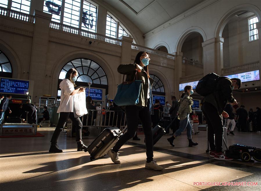
[[184, 43], [184, 41], [186, 40], [186, 38], [193, 32], [197, 32], [199, 33], [202, 38], [203, 38], [203, 41], [206, 41], [207, 40], [207, 36], [206, 36], [206, 33], [203, 31], [202, 28], [199, 28], [197, 26], [193, 26], [193, 27], [190, 27], [188, 28], [186, 31], [184, 31], [180, 36], [179, 36], [179, 39], [177, 41], [177, 44], [176, 44], [176, 47], [175, 47], [175, 51], [176, 52], [181, 52], [181, 48], [182, 48], [182, 45]]

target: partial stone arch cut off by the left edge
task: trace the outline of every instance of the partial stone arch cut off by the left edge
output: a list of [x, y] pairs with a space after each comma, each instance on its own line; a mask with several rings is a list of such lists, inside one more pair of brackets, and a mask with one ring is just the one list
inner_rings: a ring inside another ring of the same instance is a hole
[[15, 52], [12, 47], [10, 47], [6, 42], [3, 40], [0, 40], [0, 50], [5, 53], [5, 55], [8, 57], [10, 60], [10, 63], [12, 65], [12, 77], [13, 78], [22, 78], [22, 71], [23, 67], [21, 64], [21, 60], [17, 53]]

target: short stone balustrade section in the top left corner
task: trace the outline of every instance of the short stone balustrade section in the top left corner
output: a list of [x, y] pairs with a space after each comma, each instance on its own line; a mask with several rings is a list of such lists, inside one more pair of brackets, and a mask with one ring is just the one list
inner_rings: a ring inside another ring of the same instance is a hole
[[29, 22], [29, 23], [35, 22], [35, 17], [33, 15], [21, 13], [19, 11], [15, 11], [15, 10], [4, 8], [4, 7], [0, 7], [0, 15], [18, 19], [18, 20], [25, 21], [25, 22]]

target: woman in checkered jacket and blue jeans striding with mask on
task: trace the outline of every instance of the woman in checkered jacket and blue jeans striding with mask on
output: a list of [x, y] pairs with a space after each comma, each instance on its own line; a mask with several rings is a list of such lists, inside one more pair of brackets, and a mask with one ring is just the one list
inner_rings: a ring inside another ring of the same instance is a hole
[[193, 142], [191, 139], [191, 124], [190, 124], [190, 116], [189, 114], [192, 112], [191, 106], [193, 105], [192, 98], [190, 95], [193, 94], [192, 86], [186, 85], [184, 88], [184, 92], [181, 94], [181, 99], [180, 99], [180, 106], [179, 106], [179, 111], [177, 115], [179, 115], [180, 119], [180, 126], [177, 131], [173, 134], [172, 137], [168, 138], [168, 142], [170, 142], [170, 145], [174, 147], [175, 145], [173, 144], [173, 140], [177, 138], [178, 135], [180, 135], [185, 128], [187, 128], [187, 136], [188, 136], [188, 146], [196, 146], [198, 143]]

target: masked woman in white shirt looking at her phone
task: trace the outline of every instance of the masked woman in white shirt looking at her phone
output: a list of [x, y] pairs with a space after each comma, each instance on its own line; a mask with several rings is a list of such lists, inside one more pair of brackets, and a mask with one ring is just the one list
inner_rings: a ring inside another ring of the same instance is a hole
[[73, 108], [74, 108], [74, 94], [78, 94], [84, 91], [84, 88], [74, 89], [75, 81], [77, 80], [78, 72], [76, 69], [71, 68], [65, 75], [65, 78], [60, 83], [61, 88], [61, 102], [57, 110], [57, 113], [60, 113], [58, 124], [53, 132], [51, 139], [51, 147], [49, 152], [61, 153], [62, 149], [59, 149], [57, 145], [57, 140], [60, 135], [60, 132], [64, 128], [64, 125], [70, 117], [73, 122], [73, 126], [76, 130], [76, 142], [77, 142], [77, 151], [82, 151], [87, 149], [87, 146], [82, 142], [82, 122], [79, 117], [74, 117]]

